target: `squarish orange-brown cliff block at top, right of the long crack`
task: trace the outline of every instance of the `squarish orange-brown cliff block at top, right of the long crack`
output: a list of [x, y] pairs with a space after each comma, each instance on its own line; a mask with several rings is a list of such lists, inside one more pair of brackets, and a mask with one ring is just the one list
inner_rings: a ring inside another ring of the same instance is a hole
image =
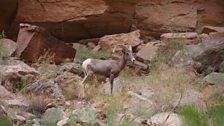
[[197, 24], [197, 7], [192, 0], [143, 0], [136, 7], [138, 28], [159, 37], [169, 31], [193, 31]]

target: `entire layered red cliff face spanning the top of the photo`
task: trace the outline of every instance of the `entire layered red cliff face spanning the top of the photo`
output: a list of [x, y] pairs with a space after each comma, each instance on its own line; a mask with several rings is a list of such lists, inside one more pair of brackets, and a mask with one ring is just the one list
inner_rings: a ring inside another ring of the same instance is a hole
[[[0, 19], [1, 30], [9, 29], [15, 1], [0, 4], [7, 7], [0, 11], [6, 15]], [[223, 0], [20, 0], [13, 26], [35, 24], [71, 42], [136, 29], [156, 38], [170, 31], [200, 32], [203, 25], [223, 26], [223, 8]], [[10, 29], [12, 35], [17, 32]]]

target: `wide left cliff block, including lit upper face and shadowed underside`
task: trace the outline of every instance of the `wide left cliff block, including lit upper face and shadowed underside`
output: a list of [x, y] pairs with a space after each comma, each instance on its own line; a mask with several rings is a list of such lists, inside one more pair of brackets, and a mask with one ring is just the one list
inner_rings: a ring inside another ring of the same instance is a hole
[[43, 26], [68, 41], [128, 32], [137, 2], [21, 0], [17, 22]]

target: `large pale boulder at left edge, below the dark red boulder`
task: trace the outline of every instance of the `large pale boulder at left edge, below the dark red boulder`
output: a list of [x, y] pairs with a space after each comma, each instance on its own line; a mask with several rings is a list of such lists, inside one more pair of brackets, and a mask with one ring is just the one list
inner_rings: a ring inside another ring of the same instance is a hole
[[6, 60], [0, 63], [0, 83], [16, 92], [39, 75], [39, 72], [20, 60]]

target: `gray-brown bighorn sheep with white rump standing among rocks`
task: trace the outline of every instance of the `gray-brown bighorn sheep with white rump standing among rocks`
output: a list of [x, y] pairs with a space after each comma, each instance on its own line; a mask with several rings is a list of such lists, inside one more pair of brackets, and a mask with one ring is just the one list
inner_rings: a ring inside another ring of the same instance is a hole
[[[110, 92], [113, 94], [113, 82], [119, 73], [124, 69], [127, 61], [135, 61], [132, 53], [132, 48], [127, 48], [124, 45], [118, 45], [122, 48], [123, 57], [119, 60], [101, 60], [101, 59], [86, 59], [82, 63], [82, 68], [85, 73], [85, 77], [81, 84], [83, 84], [83, 91], [85, 90], [86, 81], [92, 77], [93, 74], [98, 74], [109, 78]], [[115, 51], [116, 47], [113, 49]], [[85, 95], [85, 93], [84, 93]]]

